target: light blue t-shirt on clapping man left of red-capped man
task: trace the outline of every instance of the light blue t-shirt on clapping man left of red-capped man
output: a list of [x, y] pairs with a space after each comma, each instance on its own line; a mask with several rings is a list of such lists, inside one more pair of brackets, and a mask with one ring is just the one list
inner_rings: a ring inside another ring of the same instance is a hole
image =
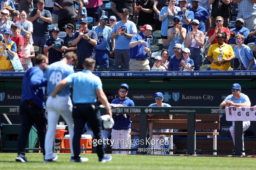
[[[126, 34], [132, 34], [132, 33], [137, 33], [137, 27], [134, 24], [134, 22], [132, 21], [127, 21], [127, 23], [122, 23], [122, 21], [119, 21], [115, 24], [114, 28], [113, 28], [113, 32], [117, 33], [117, 28], [121, 26], [122, 30], [125, 30]], [[129, 44], [131, 39], [127, 38], [123, 35], [118, 35], [116, 37], [116, 46], [115, 49], [116, 50], [128, 50], [130, 49]]]

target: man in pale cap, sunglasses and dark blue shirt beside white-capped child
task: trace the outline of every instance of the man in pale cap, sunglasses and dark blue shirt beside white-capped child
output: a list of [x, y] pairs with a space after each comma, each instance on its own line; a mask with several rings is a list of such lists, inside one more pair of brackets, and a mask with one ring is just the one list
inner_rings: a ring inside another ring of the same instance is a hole
[[175, 44], [173, 47], [173, 53], [174, 55], [170, 57], [168, 70], [169, 71], [180, 71], [180, 67], [182, 66], [180, 62], [184, 61], [184, 57], [181, 53], [182, 51], [182, 45], [181, 44]]

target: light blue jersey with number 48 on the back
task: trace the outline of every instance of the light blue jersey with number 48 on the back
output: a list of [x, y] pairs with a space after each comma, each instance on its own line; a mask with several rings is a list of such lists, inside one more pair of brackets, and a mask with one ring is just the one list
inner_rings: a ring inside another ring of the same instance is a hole
[[[66, 64], [63, 61], [54, 62], [46, 70], [45, 78], [48, 80], [47, 82], [47, 94], [50, 95], [52, 91], [54, 91], [55, 86], [62, 79], [66, 78], [68, 75], [74, 73], [73, 68]], [[59, 96], [70, 95], [69, 86], [65, 86], [58, 92]]]

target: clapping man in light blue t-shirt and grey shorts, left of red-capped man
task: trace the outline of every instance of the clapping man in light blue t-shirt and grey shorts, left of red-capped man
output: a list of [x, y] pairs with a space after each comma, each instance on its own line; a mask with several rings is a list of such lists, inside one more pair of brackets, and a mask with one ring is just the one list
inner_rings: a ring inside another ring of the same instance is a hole
[[117, 22], [111, 32], [111, 38], [115, 38], [115, 64], [129, 66], [129, 43], [133, 34], [137, 33], [136, 25], [128, 20], [127, 8], [121, 10], [121, 21]]

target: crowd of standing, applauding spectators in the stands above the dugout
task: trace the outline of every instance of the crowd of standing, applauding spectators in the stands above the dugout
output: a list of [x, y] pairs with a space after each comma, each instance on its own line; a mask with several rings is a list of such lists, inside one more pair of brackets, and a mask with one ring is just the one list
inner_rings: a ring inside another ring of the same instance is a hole
[[[14, 71], [12, 54], [25, 71], [31, 68], [33, 46], [42, 48], [49, 63], [60, 61], [67, 51], [76, 52], [77, 71], [87, 57], [104, 71], [111, 71], [110, 57], [130, 71], [192, 71], [203, 64], [211, 64], [209, 70], [255, 69], [252, 48], [246, 46], [256, 41], [255, 0], [111, 0], [110, 8], [113, 15], [108, 17], [102, 0], [0, 0], [0, 41], [5, 43], [1, 71]], [[93, 28], [87, 17], [95, 21]], [[228, 28], [230, 20], [235, 21], [233, 28]], [[51, 24], [58, 25], [49, 29]], [[151, 34], [157, 30], [162, 52], [151, 64]], [[59, 37], [61, 31], [66, 37]], [[235, 57], [237, 68], [230, 64]]]

